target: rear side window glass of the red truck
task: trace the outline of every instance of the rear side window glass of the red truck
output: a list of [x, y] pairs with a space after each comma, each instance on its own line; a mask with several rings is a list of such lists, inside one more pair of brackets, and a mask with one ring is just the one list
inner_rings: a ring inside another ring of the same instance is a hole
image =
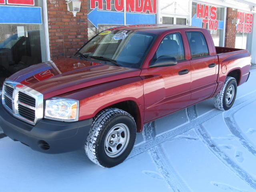
[[208, 56], [208, 47], [202, 32], [186, 32], [190, 46], [191, 58]]

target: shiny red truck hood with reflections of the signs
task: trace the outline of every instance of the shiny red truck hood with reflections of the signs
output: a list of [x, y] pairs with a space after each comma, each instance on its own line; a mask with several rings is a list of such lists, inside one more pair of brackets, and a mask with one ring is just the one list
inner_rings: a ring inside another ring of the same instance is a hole
[[61, 58], [30, 66], [8, 79], [42, 93], [44, 99], [47, 99], [81, 88], [139, 76], [141, 72], [140, 69], [103, 63]]

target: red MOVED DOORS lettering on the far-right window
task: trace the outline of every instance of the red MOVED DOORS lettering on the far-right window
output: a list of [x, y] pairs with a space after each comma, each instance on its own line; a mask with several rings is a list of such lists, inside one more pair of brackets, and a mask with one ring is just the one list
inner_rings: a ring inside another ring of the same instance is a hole
[[237, 32], [252, 32], [253, 14], [237, 12], [236, 18], [238, 19], [238, 24], [236, 25]]

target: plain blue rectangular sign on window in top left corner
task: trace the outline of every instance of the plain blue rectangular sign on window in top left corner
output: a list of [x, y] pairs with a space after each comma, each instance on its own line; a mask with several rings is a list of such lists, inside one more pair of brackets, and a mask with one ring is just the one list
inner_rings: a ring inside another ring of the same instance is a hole
[[0, 24], [42, 24], [40, 7], [0, 6]]

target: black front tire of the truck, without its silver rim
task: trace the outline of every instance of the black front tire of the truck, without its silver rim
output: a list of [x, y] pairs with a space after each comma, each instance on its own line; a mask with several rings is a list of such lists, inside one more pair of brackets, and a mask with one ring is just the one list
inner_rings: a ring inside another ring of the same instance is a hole
[[[125, 124], [130, 132], [128, 144], [122, 154], [117, 157], [108, 156], [105, 150], [105, 139], [110, 130], [117, 124]], [[95, 164], [102, 167], [113, 167], [122, 163], [132, 151], [136, 140], [136, 123], [134, 118], [127, 112], [108, 108], [102, 110], [92, 122], [86, 144], [84, 146], [86, 155]]]

